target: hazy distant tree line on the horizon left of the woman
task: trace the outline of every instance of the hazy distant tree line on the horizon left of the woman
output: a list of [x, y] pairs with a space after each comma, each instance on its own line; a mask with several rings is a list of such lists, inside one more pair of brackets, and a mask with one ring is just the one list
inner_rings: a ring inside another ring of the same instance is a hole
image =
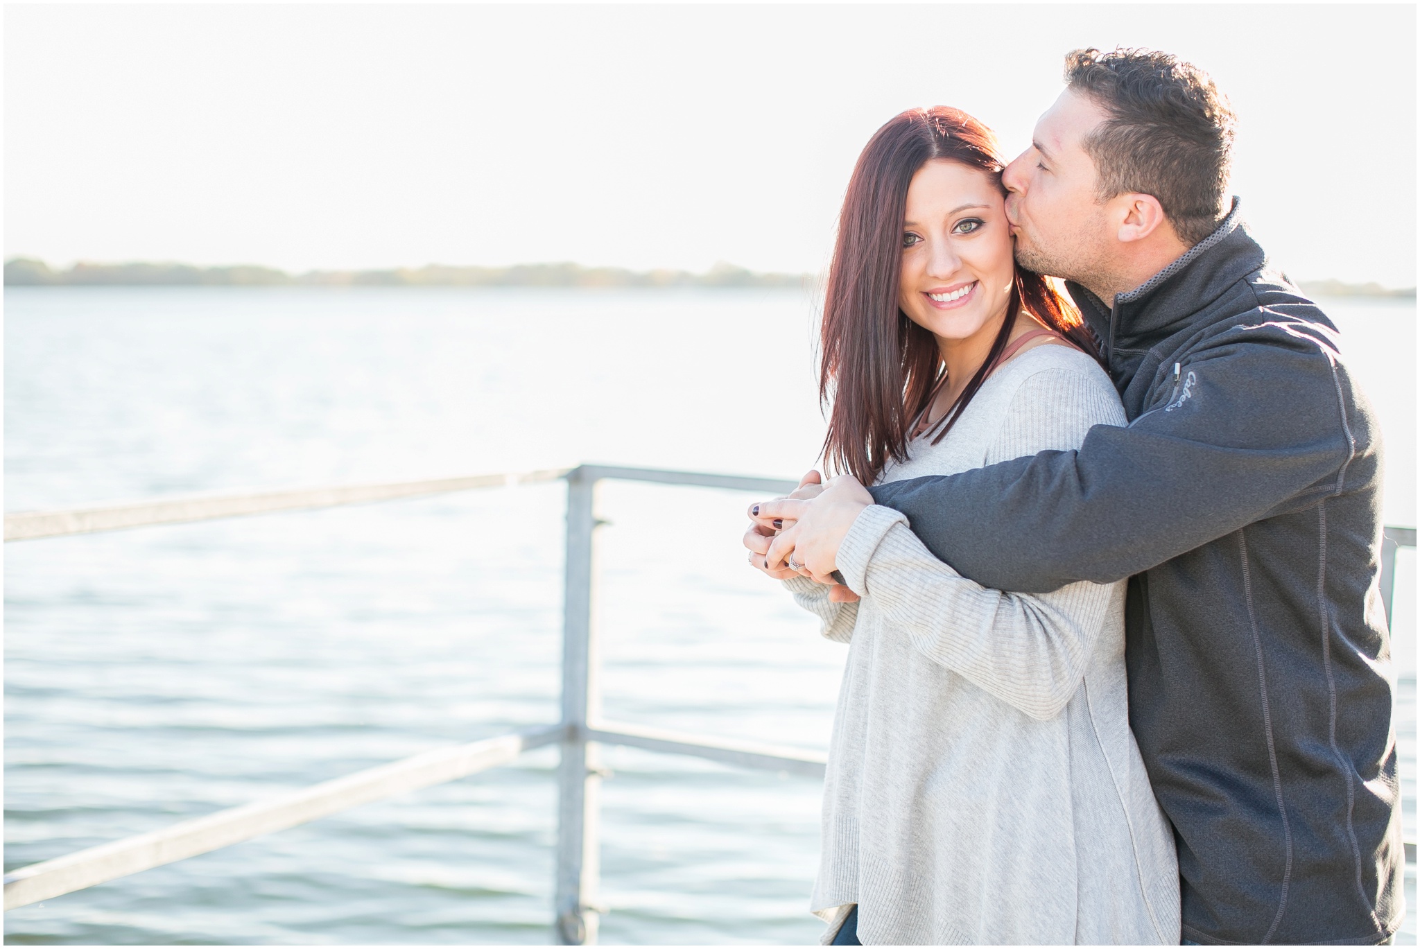
[[91, 264], [54, 270], [43, 260], [16, 257], [4, 264], [7, 287], [804, 287], [808, 274], [754, 273], [716, 264], [706, 273], [686, 270], [623, 270], [581, 264], [517, 264], [514, 267], [427, 267], [395, 270], [312, 270], [288, 274], [257, 266], [195, 267], [192, 264]]

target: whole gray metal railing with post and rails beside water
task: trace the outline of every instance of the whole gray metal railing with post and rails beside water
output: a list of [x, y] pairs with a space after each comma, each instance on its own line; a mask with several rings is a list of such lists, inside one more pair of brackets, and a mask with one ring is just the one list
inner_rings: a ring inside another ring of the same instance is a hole
[[[469, 744], [435, 749], [266, 801], [227, 808], [148, 834], [21, 867], [4, 875], [4, 908], [7, 911], [16, 909], [328, 817], [361, 804], [453, 781], [507, 764], [523, 752], [559, 744], [555, 931], [562, 945], [584, 945], [596, 940], [599, 913], [596, 909], [599, 877], [596, 791], [602, 773], [596, 760], [599, 744], [625, 744], [652, 752], [692, 754], [726, 764], [821, 779], [825, 759], [814, 752], [613, 723], [601, 716], [599, 662], [592, 611], [596, 527], [604, 523], [596, 517], [598, 482], [616, 479], [770, 494], [792, 490], [794, 482], [582, 465], [574, 469], [515, 474], [186, 497], [68, 511], [6, 514], [4, 538], [6, 541], [37, 540], [219, 517], [312, 510], [557, 479], [567, 480], [561, 722]], [[1413, 527], [1386, 527], [1382, 543], [1380, 594], [1387, 619], [1394, 591], [1396, 550], [1414, 546], [1416, 530]], [[1407, 844], [1407, 857], [1414, 859], [1413, 844]]]

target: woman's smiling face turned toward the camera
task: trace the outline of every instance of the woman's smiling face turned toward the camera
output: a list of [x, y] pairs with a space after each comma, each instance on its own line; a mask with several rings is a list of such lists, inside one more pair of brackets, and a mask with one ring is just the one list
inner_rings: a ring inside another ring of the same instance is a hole
[[1015, 257], [994, 178], [949, 161], [912, 176], [897, 303], [939, 341], [994, 335], [1011, 301]]

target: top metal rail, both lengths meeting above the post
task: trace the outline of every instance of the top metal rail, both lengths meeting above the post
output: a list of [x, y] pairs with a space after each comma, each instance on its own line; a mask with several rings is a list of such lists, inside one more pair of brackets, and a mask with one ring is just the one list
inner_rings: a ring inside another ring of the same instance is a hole
[[[183, 524], [219, 517], [244, 517], [250, 514], [271, 514], [277, 511], [315, 510], [344, 504], [368, 504], [419, 497], [423, 494], [446, 494], [479, 487], [504, 487], [510, 484], [532, 484], [565, 477], [572, 469], [555, 467], [537, 472], [514, 472], [507, 474], [471, 474], [464, 477], [440, 477], [423, 482], [393, 482], [383, 484], [345, 484], [339, 487], [315, 487], [290, 492], [261, 492], [222, 496], [173, 497], [153, 501], [132, 501], [104, 507], [80, 507], [58, 511], [20, 511], [6, 514], [4, 538], [40, 540], [43, 537], [65, 537], [70, 534], [92, 534], [105, 530], [126, 530], [158, 524]], [[666, 472], [650, 467], [601, 467], [584, 465], [592, 479], [612, 477], [630, 482], [655, 482], [660, 484], [694, 484], [700, 487], [723, 487], [741, 492], [788, 493], [795, 482], [772, 477], [741, 477], [736, 474], [704, 474], [700, 472]]]

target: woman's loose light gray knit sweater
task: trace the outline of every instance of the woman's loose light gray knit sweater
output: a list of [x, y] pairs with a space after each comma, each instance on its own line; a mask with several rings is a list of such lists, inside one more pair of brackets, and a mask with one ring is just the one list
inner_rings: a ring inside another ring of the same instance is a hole
[[[1105, 372], [1041, 345], [882, 480], [1078, 448], [1100, 423], [1125, 423]], [[858, 904], [865, 945], [1177, 945], [1173, 833], [1129, 732], [1125, 584], [988, 590], [876, 504], [838, 568], [861, 602], [785, 584], [849, 644], [811, 904], [825, 942]]]

